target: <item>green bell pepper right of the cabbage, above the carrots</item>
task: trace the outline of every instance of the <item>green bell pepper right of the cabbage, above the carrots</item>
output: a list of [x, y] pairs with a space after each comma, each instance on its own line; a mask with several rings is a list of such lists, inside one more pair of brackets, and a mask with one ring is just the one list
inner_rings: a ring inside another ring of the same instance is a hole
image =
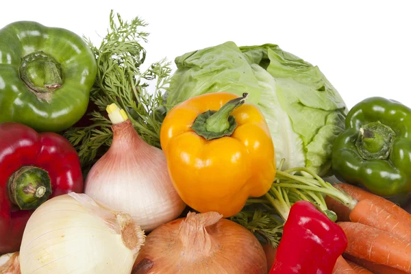
[[371, 97], [347, 114], [345, 132], [334, 142], [332, 169], [350, 184], [376, 195], [411, 192], [411, 109], [397, 101]]

